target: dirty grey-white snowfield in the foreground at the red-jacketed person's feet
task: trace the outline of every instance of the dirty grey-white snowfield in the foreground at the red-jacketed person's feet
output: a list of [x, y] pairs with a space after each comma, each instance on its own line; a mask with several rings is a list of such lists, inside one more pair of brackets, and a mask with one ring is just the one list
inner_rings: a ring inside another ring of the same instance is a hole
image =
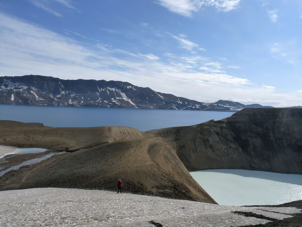
[[284, 219], [288, 207], [220, 206], [187, 200], [84, 189], [36, 188], [0, 192], [0, 226], [240, 226], [266, 223], [234, 211]]

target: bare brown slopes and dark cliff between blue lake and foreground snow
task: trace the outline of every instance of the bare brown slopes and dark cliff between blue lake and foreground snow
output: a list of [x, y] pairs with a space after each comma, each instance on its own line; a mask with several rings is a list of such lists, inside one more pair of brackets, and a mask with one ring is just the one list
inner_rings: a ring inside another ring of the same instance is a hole
[[302, 110], [244, 109], [219, 121], [140, 132], [129, 127], [53, 128], [0, 121], [0, 145], [67, 153], [0, 176], [0, 190], [114, 190], [216, 203], [188, 173], [253, 169], [302, 174]]

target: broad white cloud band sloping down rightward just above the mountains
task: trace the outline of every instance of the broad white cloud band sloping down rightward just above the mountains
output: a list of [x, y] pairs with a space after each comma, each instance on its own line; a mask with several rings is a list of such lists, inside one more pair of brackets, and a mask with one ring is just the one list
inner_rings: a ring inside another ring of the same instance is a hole
[[85, 45], [1, 13], [0, 37], [0, 75], [118, 80], [205, 102], [232, 97], [244, 104], [301, 105], [298, 92], [295, 96], [276, 94], [272, 86], [255, 86], [246, 78], [222, 71], [221, 63], [201, 56], [167, 53], [162, 56], [171, 59], [167, 63], [153, 53]]

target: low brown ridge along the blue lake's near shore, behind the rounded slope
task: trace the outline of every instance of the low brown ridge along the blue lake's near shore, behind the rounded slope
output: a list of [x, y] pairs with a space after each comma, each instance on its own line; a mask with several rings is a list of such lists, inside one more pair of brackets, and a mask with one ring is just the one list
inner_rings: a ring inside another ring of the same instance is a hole
[[58, 151], [75, 151], [116, 140], [142, 138], [130, 127], [53, 128], [41, 123], [0, 120], [0, 143], [5, 146], [39, 147]]

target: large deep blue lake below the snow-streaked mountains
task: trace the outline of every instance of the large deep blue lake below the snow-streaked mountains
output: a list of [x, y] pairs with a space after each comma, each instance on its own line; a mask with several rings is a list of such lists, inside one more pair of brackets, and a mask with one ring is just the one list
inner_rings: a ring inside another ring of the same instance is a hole
[[0, 120], [39, 122], [51, 127], [128, 126], [140, 131], [221, 120], [233, 112], [59, 107], [0, 104]]

